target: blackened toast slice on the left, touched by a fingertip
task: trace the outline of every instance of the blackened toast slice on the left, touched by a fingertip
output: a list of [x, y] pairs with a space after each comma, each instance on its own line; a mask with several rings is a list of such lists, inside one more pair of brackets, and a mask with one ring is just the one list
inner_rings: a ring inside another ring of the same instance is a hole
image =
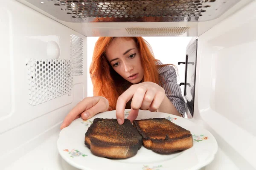
[[124, 159], [137, 154], [142, 136], [128, 119], [119, 125], [116, 119], [96, 118], [85, 133], [84, 144], [96, 156]]

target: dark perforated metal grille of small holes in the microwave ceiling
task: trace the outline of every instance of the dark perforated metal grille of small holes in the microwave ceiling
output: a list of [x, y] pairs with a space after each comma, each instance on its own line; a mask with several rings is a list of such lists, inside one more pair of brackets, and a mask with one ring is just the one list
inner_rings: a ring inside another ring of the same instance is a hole
[[61, 6], [72, 17], [171, 17], [200, 16], [215, 0], [61, 0]]

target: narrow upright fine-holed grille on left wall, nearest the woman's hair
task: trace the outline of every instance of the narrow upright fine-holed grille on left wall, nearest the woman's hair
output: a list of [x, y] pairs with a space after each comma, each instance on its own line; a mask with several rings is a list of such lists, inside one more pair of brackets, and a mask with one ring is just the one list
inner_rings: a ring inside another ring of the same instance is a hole
[[73, 76], [83, 75], [83, 39], [71, 35], [71, 59]]

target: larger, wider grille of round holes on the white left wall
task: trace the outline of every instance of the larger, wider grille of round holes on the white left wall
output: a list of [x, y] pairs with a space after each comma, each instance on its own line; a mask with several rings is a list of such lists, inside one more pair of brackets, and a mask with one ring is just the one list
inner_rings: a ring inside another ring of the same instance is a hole
[[71, 94], [73, 77], [70, 60], [30, 59], [26, 66], [30, 105], [36, 106], [65, 94]]

